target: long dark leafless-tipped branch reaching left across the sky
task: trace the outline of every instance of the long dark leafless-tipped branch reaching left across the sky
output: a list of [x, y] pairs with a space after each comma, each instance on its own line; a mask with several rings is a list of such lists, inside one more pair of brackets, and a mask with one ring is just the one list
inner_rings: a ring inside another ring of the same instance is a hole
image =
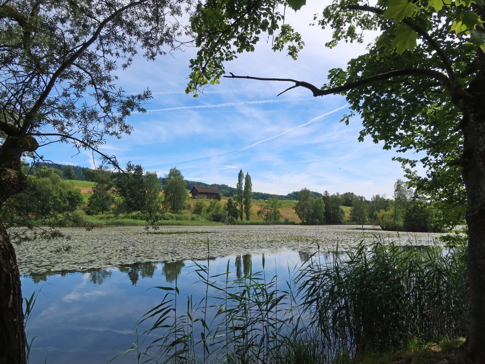
[[293, 79], [288, 79], [288, 78], [266, 78], [266, 77], [252, 77], [252, 76], [236, 76], [232, 72], [229, 72], [231, 75], [230, 76], [224, 76], [225, 78], [243, 78], [243, 79], [248, 79], [248, 80], [259, 80], [259, 81], [280, 81], [280, 82], [294, 82], [295, 85], [287, 88], [285, 91], [281, 92], [278, 94], [281, 95], [282, 93], [291, 90], [292, 88], [301, 86], [305, 87], [308, 90], [310, 90], [313, 93], [313, 96], [324, 96], [324, 95], [330, 95], [330, 94], [336, 94], [339, 92], [345, 92], [349, 91], [353, 88], [363, 86], [368, 83], [373, 83], [373, 82], [378, 82], [378, 81], [385, 81], [394, 77], [400, 77], [400, 76], [420, 76], [424, 78], [432, 78], [437, 80], [443, 87], [446, 89], [450, 90], [452, 88], [452, 85], [450, 83], [450, 79], [446, 77], [446, 75], [442, 74], [441, 72], [435, 71], [433, 69], [427, 69], [427, 68], [403, 68], [403, 69], [397, 69], [394, 71], [389, 71], [386, 73], [381, 73], [379, 75], [367, 77], [355, 82], [350, 82], [346, 83], [342, 86], [337, 86], [337, 87], [332, 87], [328, 88], [325, 90], [322, 90], [318, 88], [317, 86], [307, 83], [305, 81], [298, 81], [298, 80], [293, 80]]

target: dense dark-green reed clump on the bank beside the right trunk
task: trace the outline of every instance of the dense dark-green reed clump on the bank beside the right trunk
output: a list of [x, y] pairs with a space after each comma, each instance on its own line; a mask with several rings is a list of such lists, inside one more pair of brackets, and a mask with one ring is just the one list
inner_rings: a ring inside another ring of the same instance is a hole
[[466, 274], [464, 247], [418, 249], [377, 239], [330, 262], [314, 256], [297, 280], [304, 314], [323, 344], [354, 355], [465, 335]]

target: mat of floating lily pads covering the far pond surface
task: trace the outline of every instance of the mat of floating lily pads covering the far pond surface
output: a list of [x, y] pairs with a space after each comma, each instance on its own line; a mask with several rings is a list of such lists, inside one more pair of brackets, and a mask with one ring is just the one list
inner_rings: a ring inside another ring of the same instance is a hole
[[137, 262], [164, 262], [281, 251], [351, 250], [356, 243], [394, 241], [398, 245], [433, 245], [439, 234], [376, 232], [368, 226], [171, 226], [146, 233], [143, 227], [62, 229], [70, 239], [32, 240], [16, 245], [21, 274], [86, 270]]

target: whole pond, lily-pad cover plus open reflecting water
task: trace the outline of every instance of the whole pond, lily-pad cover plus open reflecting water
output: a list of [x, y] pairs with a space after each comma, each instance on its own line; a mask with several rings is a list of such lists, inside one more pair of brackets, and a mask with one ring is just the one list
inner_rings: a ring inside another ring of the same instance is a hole
[[[284, 286], [318, 246], [326, 260], [337, 242], [339, 249], [351, 249], [363, 234], [366, 239], [402, 240], [403, 245], [433, 244], [437, 237], [410, 234], [405, 240], [392, 233], [372, 235], [372, 227], [357, 229], [171, 227], [151, 234], [139, 228], [66, 229], [70, 240], [22, 244], [16, 251], [23, 296], [40, 292], [27, 325], [28, 339], [33, 339], [30, 363], [107, 363], [137, 337], [153, 340], [155, 333], [143, 335], [153, 321], [136, 326], [166, 293], [153, 287], [174, 287], [177, 280], [184, 305], [187, 296], [199, 302], [206, 285], [194, 271], [202, 265], [209, 265], [210, 275], [220, 274], [222, 280], [228, 268], [228, 280], [235, 281], [261, 271], [264, 259], [268, 280], [277, 276]], [[69, 248], [56, 248], [63, 246]], [[113, 363], [136, 363], [136, 355], [117, 357]]]

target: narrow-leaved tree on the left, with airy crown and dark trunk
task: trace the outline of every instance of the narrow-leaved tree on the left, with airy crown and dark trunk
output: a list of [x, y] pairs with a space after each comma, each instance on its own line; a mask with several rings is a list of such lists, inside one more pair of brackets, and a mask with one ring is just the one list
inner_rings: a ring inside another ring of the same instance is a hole
[[[186, 3], [186, 2], [184, 2]], [[150, 92], [125, 94], [117, 66], [177, 49], [181, 1], [3, 1], [0, 4], [0, 207], [24, 191], [24, 153], [71, 141], [117, 165], [97, 147], [131, 131]], [[119, 59], [119, 62], [116, 62]], [[0, 363], [25, 362], [15, 249], [0, 222]]]

